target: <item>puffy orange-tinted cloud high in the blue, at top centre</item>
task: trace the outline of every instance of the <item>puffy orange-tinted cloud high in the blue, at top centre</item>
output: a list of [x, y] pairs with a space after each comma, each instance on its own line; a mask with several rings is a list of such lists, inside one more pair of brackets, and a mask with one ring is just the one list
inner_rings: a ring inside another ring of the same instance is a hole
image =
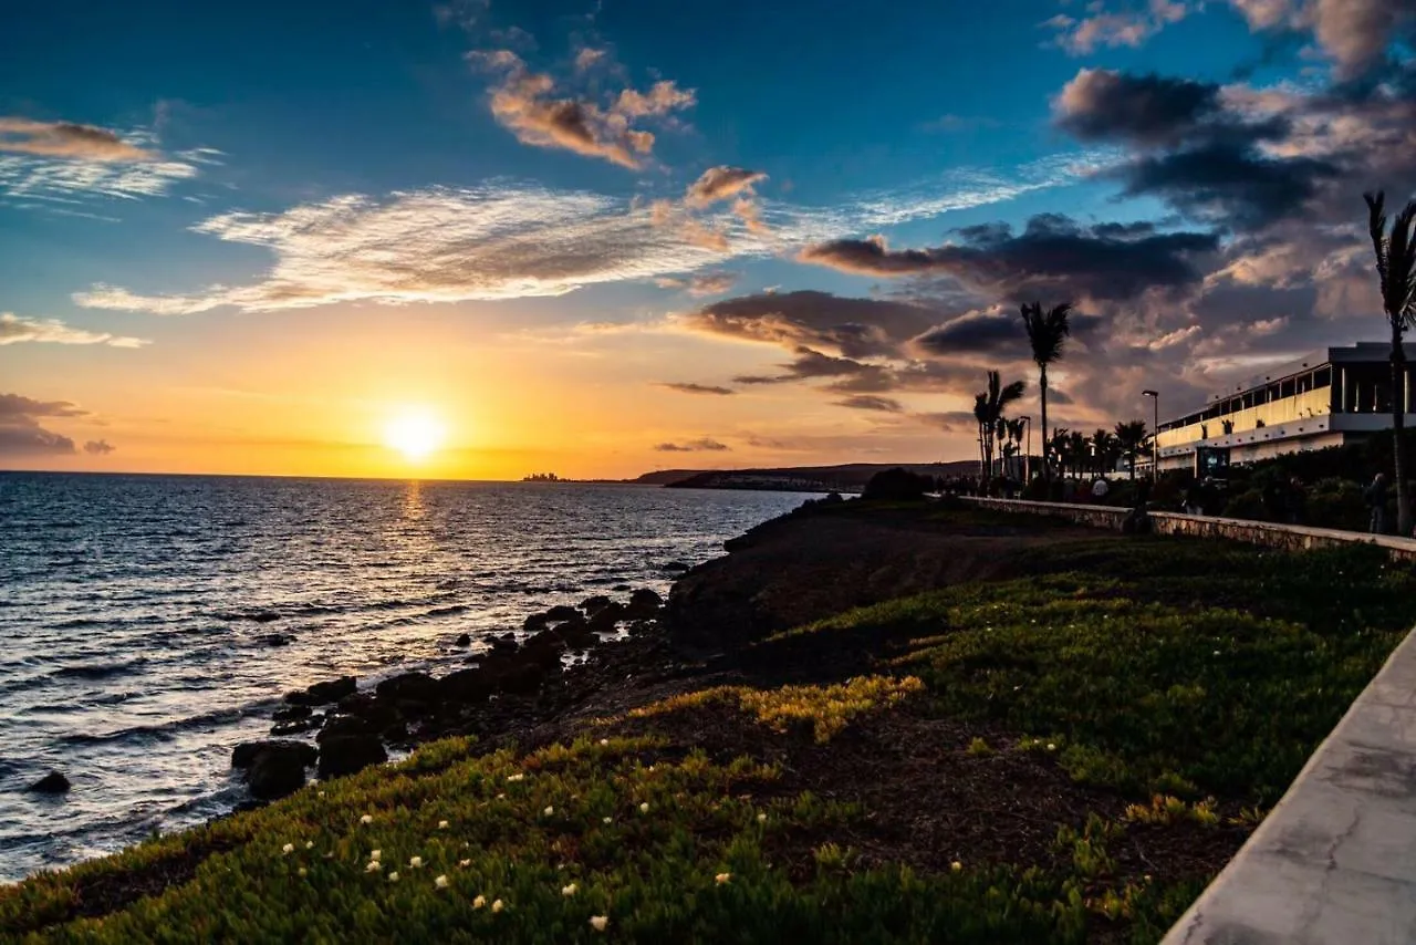
[[695, 102], [692, 89], [680, 89], [668, 79], [654, 82], [647, 92], [622, 89], [607, 103], [579, 94], [556, 98], [556, 81], [528, 69], [511, 50], [479, 50], [469, 52], [467, 61], [497, 74], [491, 113], [521, 143], [599, 157], [632, 170], [641, 169], [654, 150], [653, 132], [633, 122], [663, 119]]

